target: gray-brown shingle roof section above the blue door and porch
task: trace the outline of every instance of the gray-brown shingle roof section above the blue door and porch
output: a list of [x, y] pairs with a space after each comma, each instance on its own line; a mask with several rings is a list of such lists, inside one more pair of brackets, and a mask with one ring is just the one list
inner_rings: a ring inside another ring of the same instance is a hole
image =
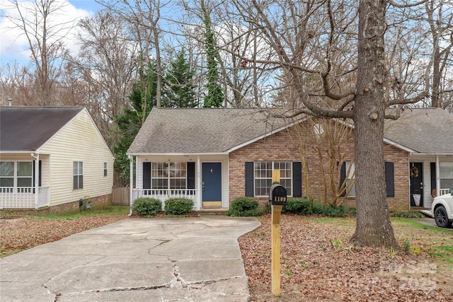
[[258, 109], [153, 108], [127, 153], [224, 153], [282, 125]]

